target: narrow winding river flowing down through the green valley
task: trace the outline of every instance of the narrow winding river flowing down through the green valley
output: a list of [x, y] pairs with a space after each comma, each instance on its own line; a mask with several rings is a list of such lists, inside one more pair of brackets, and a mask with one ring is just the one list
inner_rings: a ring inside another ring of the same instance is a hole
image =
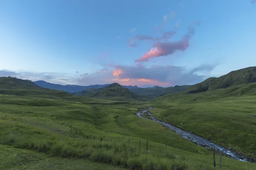
[[237, 160], [239, 160], [239, 161], [248, 161], [248, 160], [245, 159], [243, 156], [238, 155], [238, 154], [236, 154], [236, 153], [233, 153], [233, 152], [231, 152], [230, 150], [228, 150], [228, 149], [226, 149], [226, 148], [224, 148], [224, 147], [218, 146], [217, 144], [215, 144], [215, 143], [213, 143], [213, 142], [210, 142], [210, 141], [207, 140], [207, 139], [204, 139], [204, 138], [202, 138], [202, 137], [200, 137], [200, 136], [197, 136], [197, 135], [195, 135], [195, 134], [189, 133], [189, 132], [187, 132], [187, 131], [185, 131], [185, 130], [181, 130], [181, 129], [179, 129], [178, 127], [175, 127], [175, 126], [173, 126], [173, 125], [170, 125], [170, 124], [168, 124], [168, 123], [161, 122], [160, 120], [155, 119], [155, 118], [152, 116], [152, 114], [148, 112], [148, 110], [151, 109], [151, 108], [152, 108], [152, 107], [150, 107], [150, 108], [148, 108], [148, 109], [142, 111], [141, 113], [138, 112], [138, 113], [136, 113], [136, 114], [137, 114], [137, 116], [139, 116], [140, 118], [147, 119], [147, 118], [141, 116], [141, 114], [147, 112], [147, 113], [149, 114], [149, 116], [151, 117], [151, 120], [153, 120], [153, 121], [155, 121], [155, 122], [158, 122], [158, 123], [161, 123], [161, 124], [163, 124], [163, 125], [169, 127], [170, 129], [172, 129], [173, 131], [175, 131], [175, 133], [177, 133], [177, 134], [179, 134], [180, 136], [182, 136], [182, 137], [188, 139], [188, 140], [191, 141], [191, 142], [194, 142], [194, 143], [196, 143], [196, 144], [198, 144], [198, 145], [200, 145], [200, 146], [203, 146], [203, 147], [213, 148], [213, 149], [215, 149], [215, 150], [219, 150], [219, 151], [221, 151], [222, 153], [224, 153], [225, 155], [230, 156], [230, 158], [237, 159]]

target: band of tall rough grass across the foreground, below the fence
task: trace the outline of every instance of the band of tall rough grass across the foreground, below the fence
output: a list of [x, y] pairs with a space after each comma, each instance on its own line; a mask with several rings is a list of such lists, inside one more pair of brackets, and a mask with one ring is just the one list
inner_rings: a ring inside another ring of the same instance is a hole
[[133, 170], [198, 170], [198, 167], [204, 167], [203, 164], [194, 165], [185, 158], [175, 155], [151, 155], [124, 142], [72, 138], [33, 128], [22, 122], [8, 122], [3, 120], [0, 125], [0, 144], [16, 148], [37, 150], [63, 158], [89, 159]]

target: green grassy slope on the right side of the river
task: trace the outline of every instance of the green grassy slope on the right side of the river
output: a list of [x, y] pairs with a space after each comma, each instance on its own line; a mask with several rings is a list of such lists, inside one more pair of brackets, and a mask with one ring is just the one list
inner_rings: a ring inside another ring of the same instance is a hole
[[[152, 102], [158, 119], [256, 158], [256, 83]], [[183, 123], [183, 125], [180, 125]]]

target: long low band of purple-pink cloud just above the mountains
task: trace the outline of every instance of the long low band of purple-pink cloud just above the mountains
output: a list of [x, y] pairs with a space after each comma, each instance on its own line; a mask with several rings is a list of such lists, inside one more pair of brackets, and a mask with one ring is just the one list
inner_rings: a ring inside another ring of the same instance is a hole
[[95, 85], [118, 82], [121, 85], [137, 85], [139, 87], [155, 85], [168, 87], [201, 82], [213, 68], [215, 68], [215, 65], [201, 65], [192, 69], [173, 65], [153, 65], [150, 67], [144, 65], [109, 65], [102, 70], [80, 75], [0, 70], [0, 77], [11, 76], [32, 81], [44, 80], [61, 85]]

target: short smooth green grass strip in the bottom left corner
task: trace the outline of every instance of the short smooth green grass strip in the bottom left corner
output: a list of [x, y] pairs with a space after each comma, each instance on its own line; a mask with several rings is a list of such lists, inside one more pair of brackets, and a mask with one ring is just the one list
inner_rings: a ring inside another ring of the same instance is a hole
[[0, 145], [1, 170], [122, 170], [109, 164], [93, 163], [85, 159], [52, 157], [33, 150]]

